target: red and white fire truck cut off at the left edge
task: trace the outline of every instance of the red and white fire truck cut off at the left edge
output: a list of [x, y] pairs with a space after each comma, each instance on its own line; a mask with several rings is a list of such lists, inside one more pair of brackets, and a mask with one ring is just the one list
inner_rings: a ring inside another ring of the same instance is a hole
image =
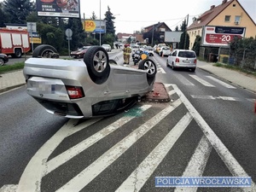
[[26, 30], [0, 28], [0, 53], [20, 58], [30, 49]]

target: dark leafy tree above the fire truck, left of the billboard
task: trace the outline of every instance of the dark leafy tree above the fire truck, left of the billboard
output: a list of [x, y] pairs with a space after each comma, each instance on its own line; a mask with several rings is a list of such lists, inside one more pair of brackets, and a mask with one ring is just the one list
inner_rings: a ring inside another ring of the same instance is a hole
[[36, 11], [35, 3], [30, 0], [5, 0], [3, 11], [8, 16], [10, 23], [25, 24], [26, 17]]

